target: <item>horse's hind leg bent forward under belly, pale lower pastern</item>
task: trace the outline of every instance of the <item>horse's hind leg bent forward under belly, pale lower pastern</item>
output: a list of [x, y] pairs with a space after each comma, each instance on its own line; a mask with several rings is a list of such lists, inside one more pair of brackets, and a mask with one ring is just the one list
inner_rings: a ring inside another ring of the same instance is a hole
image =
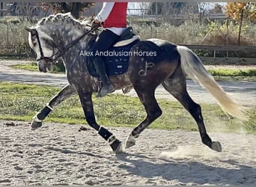
[[138, 126], [136, 126], [135, 129], [133, 129], [132, 132], [129, 134], [126, 140], [126, 148], [135, 145], [135, 138], [138, 138], [138, 135], [140, 135], [140, 133], [144, 129], [146, 129], [147, 126], [150, 125], [150, 123], [152, 123], [162, 114], [162, 110], [156, 102], [154, 90], [138, 91], [138, 89], [135, 88], [135, 91], [137, 92], [139, 99], [144, 105], [144, 108], [147, 112], [147, 117], [140, 124], [138, 124]]

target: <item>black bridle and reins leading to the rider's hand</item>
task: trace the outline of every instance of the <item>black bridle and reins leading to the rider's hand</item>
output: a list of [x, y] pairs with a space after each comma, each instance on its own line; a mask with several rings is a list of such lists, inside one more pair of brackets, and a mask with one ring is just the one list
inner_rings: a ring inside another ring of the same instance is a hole
[[94, 31], [94, 29], [90, 29], [89, 31], [86, 31], [84, 34], [82, 34], [80, 37], [77, 37], [76, 40], [71, 41], [70, 43], [67, 43], [67, 46], [64, 47], [63, 50], [58, 49], [58, 52], [55, 52], [53, 55], [46, 57], [43, 55], [43, 48], [40, 42], [40, 38], [39, 38], [39, 34], [37, 32], [36, 29], [34, 29], [36, 37], [37, 37], [37, 43], [39, 46], [39, 50], [40, 50], [40, 58], [37, 58], [36, 61], [55, 61], [56, 59], [60, 58], [61, 56], [63, 56], [72, 46], [74, 46], [76, 43], [79, 42], [79, 40], [81, 40], [83, 37], [85, 37], [87, 34], [89, 34], [90, 32]]

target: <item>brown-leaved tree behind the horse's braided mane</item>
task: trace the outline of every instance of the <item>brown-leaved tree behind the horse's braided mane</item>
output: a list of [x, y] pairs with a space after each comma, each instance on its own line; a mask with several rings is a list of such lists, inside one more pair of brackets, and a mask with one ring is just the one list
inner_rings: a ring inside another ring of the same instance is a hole
[[48, 11], [52, 8], [52, 13], [67, 13], [70, 12], [72, 16], [79, 19], [80, 12], [85, 12], [88, 7], [95, 5], [94, 2], [51, 2], [51, 3], [40, 3], [43, 10]]

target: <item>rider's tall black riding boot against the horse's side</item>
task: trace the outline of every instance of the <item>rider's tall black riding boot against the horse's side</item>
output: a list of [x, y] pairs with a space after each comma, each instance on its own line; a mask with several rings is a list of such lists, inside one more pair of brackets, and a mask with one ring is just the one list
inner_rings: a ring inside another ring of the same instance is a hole
[[101, 82], [103, 82], [103, 88], [97, 94], [97, 97], [106, 96], [108, 93], [115, 91], [114, 86], [109, 82], [109, 77], [106, 74], [106, 66], [103, 59], [100, 57], [94, 58], [94, 66], [100, 76]]

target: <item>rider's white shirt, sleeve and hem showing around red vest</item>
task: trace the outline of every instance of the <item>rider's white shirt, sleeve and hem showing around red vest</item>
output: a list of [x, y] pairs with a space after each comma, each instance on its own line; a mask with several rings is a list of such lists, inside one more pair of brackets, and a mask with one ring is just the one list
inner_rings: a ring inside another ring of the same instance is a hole
[[[109, 13], [111, 13], [111, 10], [114, 7], [114, 4], [115, 2], [103, 2], [103, 7], [100, 10], [100, 12], [97, 14], [95, 19], [98, 19], [100, 22], [104, 22], [108, 18]], [[120, 36], [126, 28], [111, 27], [106, 29], [109, 29], [110, 31]]]

